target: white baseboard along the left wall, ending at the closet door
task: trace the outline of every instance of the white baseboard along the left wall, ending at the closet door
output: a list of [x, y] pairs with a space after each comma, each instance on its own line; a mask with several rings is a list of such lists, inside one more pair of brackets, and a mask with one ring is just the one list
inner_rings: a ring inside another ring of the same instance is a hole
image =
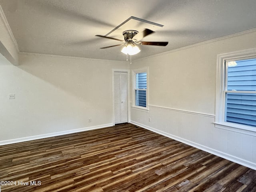
[[60, 136], [60, 135], [66, 135], [66, 134], [71, 134], [71, 133], [78, 133], [78, 132], [82, 132], [82, 131], [100, 129], [100, 128], [111, 127], [111, 126], [113, 126], [113, 124], [109, 123], [109, 124], [104, 124], [104, 125], [97, 125], [97, 126], [91, 126], [91, 127], [85, 127], [85, 128], [79, 128], [79, 129], [73, 129], [73, 130], [67, 130], [67, 131], [60, 131], [60, 132], [54, 132], [54, 133], [48, 133], [48, 134], [42, 134], [42, 135], [36, 135], [36, 136], [4, 140], [4, 141], [0, 141], [0, 146], [7, 145], [7, 144], [20, 143], [20, 142], [24, 142], [24, 141], [32, 141], [32, 140], [36, 140], [36, 139], [44, 139], [44, 138]]

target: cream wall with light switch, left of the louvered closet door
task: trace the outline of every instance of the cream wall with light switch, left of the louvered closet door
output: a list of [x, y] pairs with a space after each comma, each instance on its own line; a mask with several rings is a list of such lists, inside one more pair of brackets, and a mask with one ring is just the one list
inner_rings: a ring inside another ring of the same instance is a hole
[[128, 62], [36, 54], [19, 60], [0, 62], [0, 144], [112, 126], [112, 69]]

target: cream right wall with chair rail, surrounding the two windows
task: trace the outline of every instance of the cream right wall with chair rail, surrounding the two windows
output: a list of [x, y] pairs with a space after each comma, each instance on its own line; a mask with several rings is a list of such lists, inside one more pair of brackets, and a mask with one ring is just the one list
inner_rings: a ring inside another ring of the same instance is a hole
[[131, 108], [131, 122], [256, 169], [256, 137], [213, 124], [216, 56], [255, 48], [255, 39], [254, 30], [134, 61], [149, 68], [150, 110]]

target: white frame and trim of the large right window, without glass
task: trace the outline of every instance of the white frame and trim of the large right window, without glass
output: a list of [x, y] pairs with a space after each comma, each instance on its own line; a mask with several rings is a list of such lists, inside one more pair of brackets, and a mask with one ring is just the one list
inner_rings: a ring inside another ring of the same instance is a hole
[[[215, 127], [234, 132], [240, 132], [248, 135], [256, 136], [256, 128], [232, 122], [225, 122], [226, 92], [239, 93], [246, 91], [229, 91], [227, 87], [227, 70], [228, 66], [225, 62], [234, 60], [245, 60], [256, 58], [256, 48], [240, 50], [217, 55], [216, 68], [216, 106], [215, 106]], [[248, 92], [248, 91], [247, 91]], [[250, 91], [256, 93], [256, 91]]]

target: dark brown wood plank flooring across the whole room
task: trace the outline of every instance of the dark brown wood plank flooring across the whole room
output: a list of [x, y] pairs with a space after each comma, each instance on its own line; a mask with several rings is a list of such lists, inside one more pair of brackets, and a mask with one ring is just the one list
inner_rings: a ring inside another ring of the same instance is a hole
[[0, 146], [0, 181], [1, 192], [256, 192], [255, 170], [132, 124]]

